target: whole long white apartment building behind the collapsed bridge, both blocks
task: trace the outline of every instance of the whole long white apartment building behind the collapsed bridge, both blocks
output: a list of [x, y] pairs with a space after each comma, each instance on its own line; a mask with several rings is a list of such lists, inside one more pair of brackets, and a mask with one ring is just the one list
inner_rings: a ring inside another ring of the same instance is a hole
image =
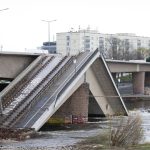
[[[118, 45], [129, 52], [141, 47], [150, 49], [150, 37], [136, 36], [131, 33], [102, 34], [96, 30], [87, 29], [57, 33], [56, 51], [63, 55], [76, 55], [79, 52], [94, 51], [99, 48], [104, 55], [107, 55], [112, 46], [110, 41], [112, 39], [113, 42], [116, 39], [119, 40]], [[116, 44], [116, 49], [118, 45]]]

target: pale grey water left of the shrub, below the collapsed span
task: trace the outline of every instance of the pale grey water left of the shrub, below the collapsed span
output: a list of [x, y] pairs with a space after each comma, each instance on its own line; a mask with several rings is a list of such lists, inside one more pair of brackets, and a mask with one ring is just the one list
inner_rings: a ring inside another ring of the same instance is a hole
[[3, 141], [0, 150], [58, 150], [65, 146], [74, 145], [86, 137], [95, 136], [101, 131], [102, 129], [39, 132], [39, 135], [34, 139]]

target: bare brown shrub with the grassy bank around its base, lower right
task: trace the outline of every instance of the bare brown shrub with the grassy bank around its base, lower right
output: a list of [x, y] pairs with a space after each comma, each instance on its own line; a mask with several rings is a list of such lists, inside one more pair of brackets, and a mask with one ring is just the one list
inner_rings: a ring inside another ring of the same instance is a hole
[[[142, 121], [140, 116], [122, 117], [118, 124], [112, 123], [113, 117], [109, 118], [108, 130], [95, 137], [81, 142], [80, 149], [100, 150], [149, 150], [150, 145], [139, 145], [143, 137]], [[82, 145], [82, 146], [81, 146]], [[82, 147], [82, 148], [81, 148]]]

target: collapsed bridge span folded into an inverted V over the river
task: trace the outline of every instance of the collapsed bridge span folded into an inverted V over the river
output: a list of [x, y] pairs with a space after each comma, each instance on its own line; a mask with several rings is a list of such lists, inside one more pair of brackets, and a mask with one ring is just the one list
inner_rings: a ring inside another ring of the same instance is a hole
[[[122, 112], [127, 109], [116, 88], [111, 73], [98, 50], [81, 53], [76, 57], [40, 55], [22, 71], [0, 95], [2, 100], [1, 127], [35, 128], [41, 126], [85, 81], [90, 84], [104, 114]], [[73, 63], [76, 59], [76, 64]], [[109, 109], [106, 108], [109, 105]], [[117, 106], [117, 107], [116, 107]]]

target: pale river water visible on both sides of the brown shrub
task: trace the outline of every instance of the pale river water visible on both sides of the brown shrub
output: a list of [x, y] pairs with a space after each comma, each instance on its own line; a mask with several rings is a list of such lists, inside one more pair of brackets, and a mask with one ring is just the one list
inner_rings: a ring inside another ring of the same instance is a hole
[[[143, 120], [144, 143], [150, 142], [150, 113], [149, 110], [130, 111], [131, 115], [139, 114]], [[87, 137], [92, 137], [103, 133], [108, 129], [109, 121], [97, 122], [97, 128], [86, 130], [59, 130], [49, 132], [39, 132], [33, 139], [24, 141], [1, 141], [0, 150], [61, 150], [62, 147], [74, 145]], [[65, 148], [64, 148], [65, 150]], [[68, 150], [68, 149], [67, 149]]]

